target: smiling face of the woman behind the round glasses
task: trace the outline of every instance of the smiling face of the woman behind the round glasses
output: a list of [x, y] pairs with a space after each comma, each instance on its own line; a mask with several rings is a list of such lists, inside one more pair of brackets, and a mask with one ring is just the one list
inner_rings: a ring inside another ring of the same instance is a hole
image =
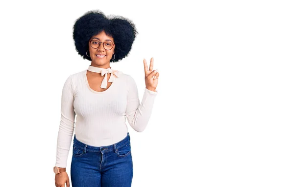
[[[111, 36], [107, 36], [104, 31], [100, 32], [98, 35], [95, 35], [91, 37], [92, 45], [98, 46], [98, 42], [112, 42], [114, 43], [114, 40]], [[104, 43], [104, 47], [107, 49], [109, 47], [109, 43]], [[95, 47], [95, 46], [94, 46]], [[101, 68], [109, 68], [110, 67], [110, 60], [113, 57], [114, 54], [114, 48], [115, 45], [110, 50], [105, 50], [103, 47], [103, 43], [100, 43], [99, 47], [97, 49], [93, 48], [89, 42], [89, 51], [90, 51], [90, 57], [92, 59], [91, 65], [95, 67], [101, 67]]]

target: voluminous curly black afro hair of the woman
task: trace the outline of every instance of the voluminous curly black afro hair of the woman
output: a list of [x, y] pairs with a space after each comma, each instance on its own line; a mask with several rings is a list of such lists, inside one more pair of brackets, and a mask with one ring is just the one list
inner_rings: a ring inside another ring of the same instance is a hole
[[106, 35], [111, 36], [115, 43], [115, 59], [110, 62], [118, 62], [126, 57], [132, 44], [138, 34], [135, 24], [122, 16], [105, 16], [99, 10], [91, 10], [78, 18], [73, 25], [73, 40], [75, 50], [83, 59], [91, 61], [91, 58], [86, 55], [89, 50], [88, 42], [94, 35], [101, 31]]

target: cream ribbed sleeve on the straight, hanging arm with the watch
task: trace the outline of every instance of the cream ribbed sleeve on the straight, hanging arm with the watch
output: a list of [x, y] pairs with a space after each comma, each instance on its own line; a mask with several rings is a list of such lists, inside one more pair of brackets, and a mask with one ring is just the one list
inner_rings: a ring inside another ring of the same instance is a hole
[[73, 137], [75, 112], [73, 108], [72, 76], [65, 81], [61, 96], [61, 120], [57, 138], [56, 164], [66, 167], [71, 141]]

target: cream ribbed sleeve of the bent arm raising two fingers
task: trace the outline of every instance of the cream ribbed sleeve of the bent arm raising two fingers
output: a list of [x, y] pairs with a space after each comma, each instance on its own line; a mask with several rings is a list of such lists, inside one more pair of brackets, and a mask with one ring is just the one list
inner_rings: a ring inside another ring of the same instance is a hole
[[138, 88], [135, 80], [128, 75], [127, 78], [127, 106], [126, 106], [126, 118], [129, 125], [136, 131], [142, 132], [150, 119], [152, 107], [154, 104], [157, 90], [150, 91], [145, 88], [143, 99], [140, 104], [138, 96]]

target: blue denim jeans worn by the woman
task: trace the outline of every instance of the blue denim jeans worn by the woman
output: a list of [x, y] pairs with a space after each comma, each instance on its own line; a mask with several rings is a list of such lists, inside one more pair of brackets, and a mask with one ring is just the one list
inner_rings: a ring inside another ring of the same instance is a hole
[[133, 161], [130, 136], [108, 146], [90, 146], [73, 138], [73, 187], [130, 187]]

